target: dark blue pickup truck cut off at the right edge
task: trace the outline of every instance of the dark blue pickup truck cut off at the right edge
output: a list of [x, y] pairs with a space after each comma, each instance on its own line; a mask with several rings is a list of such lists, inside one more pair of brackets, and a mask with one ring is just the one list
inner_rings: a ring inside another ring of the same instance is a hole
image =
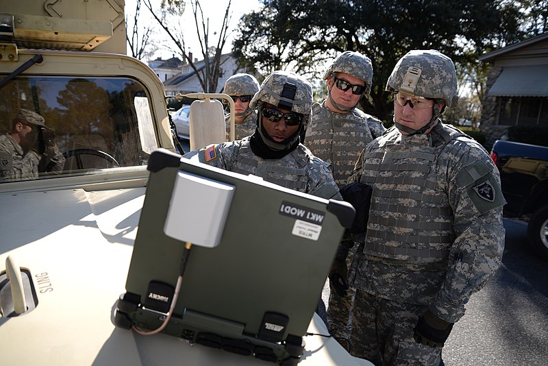
[[527, 239], [548, 260], [548, 147], [495, 141], [491, 158], [501, 173], [506, 217], [529, 217]]

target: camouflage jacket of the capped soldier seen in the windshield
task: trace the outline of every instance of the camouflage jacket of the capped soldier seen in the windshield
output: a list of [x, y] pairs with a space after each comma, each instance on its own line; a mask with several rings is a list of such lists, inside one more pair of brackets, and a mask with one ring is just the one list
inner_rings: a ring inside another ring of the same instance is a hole
[[[49, 155], [53, 156], [49, 158]], [[0, 181], [38, 179], [38, 166], [53, 164], [52, 171], [64, 167], [65, 158], [55, 146], [51, 154], [39, 156], [35, 151], [25, 154], [21, 145], [10, 134], [0, 136]]]

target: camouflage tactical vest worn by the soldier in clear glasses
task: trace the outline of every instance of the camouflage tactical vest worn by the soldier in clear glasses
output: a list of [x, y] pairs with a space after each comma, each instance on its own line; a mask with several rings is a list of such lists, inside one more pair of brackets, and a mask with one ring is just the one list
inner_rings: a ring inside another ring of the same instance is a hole
[[439, 262], [449, 256], [456, 234], [446, 167], [437, 162], [444, 147], [464, 135], [447, 128], [436, 132], [408, 136], [399, 144], [394, 130], [364, 152], [360, 181], [373, 186], [364, 254], [410, 263]]

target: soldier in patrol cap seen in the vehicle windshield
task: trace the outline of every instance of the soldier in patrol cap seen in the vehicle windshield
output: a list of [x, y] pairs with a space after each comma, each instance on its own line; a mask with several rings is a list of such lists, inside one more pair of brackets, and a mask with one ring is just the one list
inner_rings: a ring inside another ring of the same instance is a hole
[[33, 180], [44, 171], [60, 173], [65, 158], [53, 138], [44, 117], [18, 110], [12, 130], [0, 136], [0, 182]]

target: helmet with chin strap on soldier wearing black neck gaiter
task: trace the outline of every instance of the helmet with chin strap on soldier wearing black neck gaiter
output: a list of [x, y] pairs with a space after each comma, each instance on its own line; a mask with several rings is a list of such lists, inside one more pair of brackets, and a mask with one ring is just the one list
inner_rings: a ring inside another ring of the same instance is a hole
[[[262, 106], [264, 103], [303, 114], [299, 130], [282, 143], [277, 143], [269, 138], [262, 128]], [[312, 85], [308, 80], [295, 73], [274, 71], [262, 82], [259, 91], [251, 99], [249, 108], [257, 108], [259, 112], [257, 126], [262, 141], [274, 150], [290, 149], [295, 145], [295, 142], [299, 141], [299, 135], [304, 134], [303, 132], [312, 119]]]

